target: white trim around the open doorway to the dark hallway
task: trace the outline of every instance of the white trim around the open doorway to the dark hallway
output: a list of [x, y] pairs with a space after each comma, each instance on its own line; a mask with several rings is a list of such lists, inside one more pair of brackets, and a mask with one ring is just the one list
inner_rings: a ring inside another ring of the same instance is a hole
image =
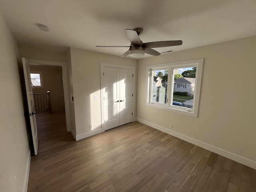
[[57, 62], [57, 61], [46, 61], [46, 60], [37, 60], [37, 59], [27, 59], [30, 64], [39, 64], [39, 65], [48, 65], [48, 66], [61, 66], [62, 68], [62, 78], [63, 78], [63, 90], [64, 90], [64, 102], [65, 102], [65, 114], [66, 114], [66, 126], [67, 132], [71, 130], [70, 124], [70, 108], [69, 108], [69, 96], [68, 96], [68, 75], [66, 62]]

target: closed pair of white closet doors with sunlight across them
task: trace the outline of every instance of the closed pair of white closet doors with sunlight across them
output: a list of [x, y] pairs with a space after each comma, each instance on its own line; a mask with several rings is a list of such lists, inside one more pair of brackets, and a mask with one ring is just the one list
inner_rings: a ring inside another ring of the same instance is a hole
[[104, 130], [132, 122], [133, 70], [103, 67]]

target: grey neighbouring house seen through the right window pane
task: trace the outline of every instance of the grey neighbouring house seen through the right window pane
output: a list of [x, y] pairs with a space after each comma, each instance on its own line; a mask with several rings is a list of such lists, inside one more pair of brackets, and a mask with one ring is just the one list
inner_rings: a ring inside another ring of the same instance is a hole
[[188, 92], [194, 95], [196, 78], [182, 77], [174, 80], [174, 92]]

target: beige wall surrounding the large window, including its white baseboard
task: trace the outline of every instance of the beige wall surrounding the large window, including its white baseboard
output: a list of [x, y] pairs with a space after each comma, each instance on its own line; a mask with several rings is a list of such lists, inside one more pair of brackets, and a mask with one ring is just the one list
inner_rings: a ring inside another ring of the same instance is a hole
[[[253, 36], [139, 60], [137, 120], [256, 168], [255, 50]], [[147, 65], [198, 58], [204, 58], [198, 118], [145, 105]]]

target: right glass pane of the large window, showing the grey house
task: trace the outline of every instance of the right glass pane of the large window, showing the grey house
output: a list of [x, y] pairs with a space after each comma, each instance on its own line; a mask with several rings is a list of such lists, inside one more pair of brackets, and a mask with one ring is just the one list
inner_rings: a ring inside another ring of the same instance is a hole
[[174, 69], [172, 105], [193, 108], [196, 67]]

